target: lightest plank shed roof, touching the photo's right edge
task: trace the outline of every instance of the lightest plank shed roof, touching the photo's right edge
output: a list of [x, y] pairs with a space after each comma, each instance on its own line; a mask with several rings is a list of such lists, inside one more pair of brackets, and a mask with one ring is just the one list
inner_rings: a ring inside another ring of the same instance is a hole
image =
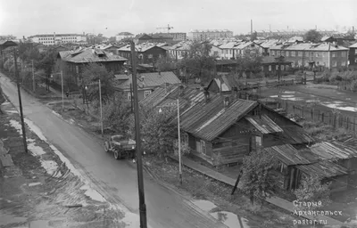
[[357, 150], [342, 142], [319, 142], [310, 147], [311, 152], [320, 159], [350, 159], [357, 158]]

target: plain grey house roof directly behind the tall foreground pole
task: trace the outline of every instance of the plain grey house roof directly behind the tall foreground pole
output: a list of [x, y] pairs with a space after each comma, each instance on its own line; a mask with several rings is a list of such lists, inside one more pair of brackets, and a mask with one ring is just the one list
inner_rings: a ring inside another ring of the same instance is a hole
[[[129, 89], [132, 83], [132, 77], [129, 75], [129, 79], [124, 83], [119, 85], [120, 89]], [[137, 85], [141, 88], [145, 87], [157, 87], [159, 85], [169, 83], [169, 84], [179, 84], [181, 81], [173, 72], [151, 72], [151, 73], [140, 73], [137, 76]]]

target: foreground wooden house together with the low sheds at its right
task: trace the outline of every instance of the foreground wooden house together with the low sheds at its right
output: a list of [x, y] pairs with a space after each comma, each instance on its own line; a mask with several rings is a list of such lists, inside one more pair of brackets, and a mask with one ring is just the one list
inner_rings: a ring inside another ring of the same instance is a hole
[[[210, 89], [164, 85], [140, 104], [152, 111], [179, 99], [180, 129], [191, 154], [213, 166], [240, 163], [254, 150], [270, 151], [286, 190], [299, 186], [303, 175], [320, 175], [332, 191], [348, 187], [355, 173], [356, 148], [342, 142], [316, 142], [303, 126], [262, 102], [237, 98], [237, 90], [221, 95]], [[163, 110], [175, 118], [176, 110]]]

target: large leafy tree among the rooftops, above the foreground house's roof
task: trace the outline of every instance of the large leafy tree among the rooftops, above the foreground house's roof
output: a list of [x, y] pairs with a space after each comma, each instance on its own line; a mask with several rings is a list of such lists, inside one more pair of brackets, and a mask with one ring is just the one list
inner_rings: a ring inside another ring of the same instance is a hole
[[194, 42], [188, 52], [179, 62], [178, 68], [183, 69], [189, 78], [198, 77], [209, 81], [215, 68], [215, 56], [210, 56], [212, 45], [208, 42]]

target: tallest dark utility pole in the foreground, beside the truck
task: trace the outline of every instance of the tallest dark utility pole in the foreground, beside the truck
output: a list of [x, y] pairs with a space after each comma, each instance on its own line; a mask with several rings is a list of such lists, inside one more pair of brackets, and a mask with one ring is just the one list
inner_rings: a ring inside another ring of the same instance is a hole
[[146, 205], [144, 193], [144, 180], [143, 180], [143, 161], [141, 152], [141, 137], [140, 137], [140, 120], [139, 120], [139, 103], [137, 97], [137, 56], [135, 54], [135, 44], [130, 42], [131, 49], [131, 64], [132, 64], [132, 82], [134, 90], [134, 106], [135, 106], [135, 129], [136, 129], [136, 142], [137, 142], [137, 185], [139, 191], [139, 211], [140, 211], [140, 228], [147, 228], [146, 222]]

